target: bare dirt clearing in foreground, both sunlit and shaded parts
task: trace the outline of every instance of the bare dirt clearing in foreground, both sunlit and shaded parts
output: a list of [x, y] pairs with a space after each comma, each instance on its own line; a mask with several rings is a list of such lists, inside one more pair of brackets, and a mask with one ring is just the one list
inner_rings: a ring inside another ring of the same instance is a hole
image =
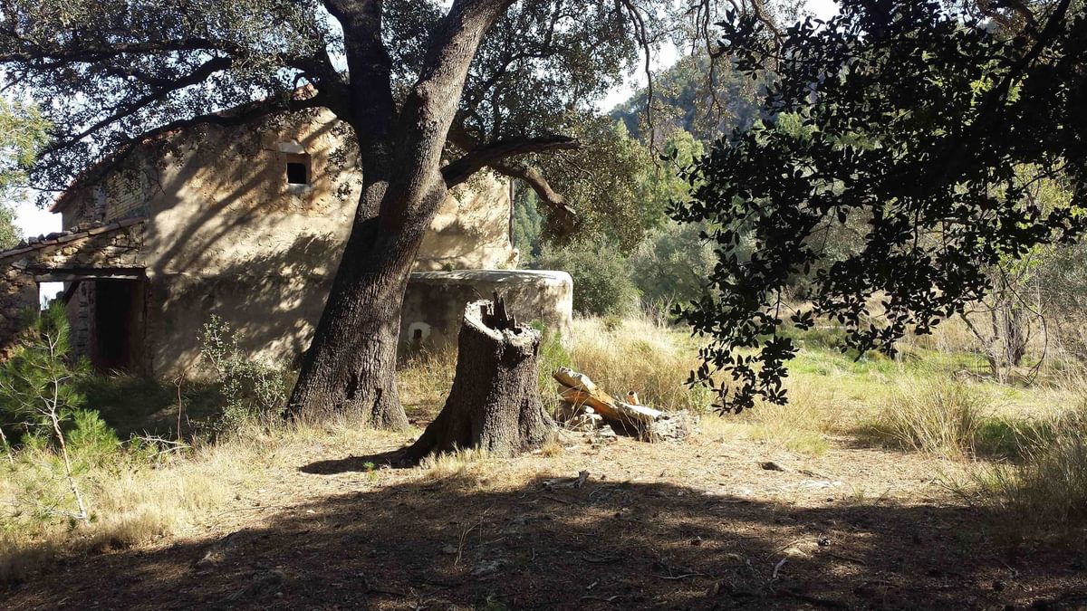
[[1080, 554], [1011, 551], [913, 453], [702, 434], [373, 470], [401, 441], [317, 444], [191, 536], [67, 559], [0, 607], [1087, 608]]

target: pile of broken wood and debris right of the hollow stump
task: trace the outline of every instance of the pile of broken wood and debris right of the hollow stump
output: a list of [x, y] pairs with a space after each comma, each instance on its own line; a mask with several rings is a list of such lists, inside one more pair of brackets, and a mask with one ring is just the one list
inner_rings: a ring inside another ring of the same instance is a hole
[[696, 419], [688, 412], [663, 412], [640, 404], [638, 394], [629, 391], [620, 401], [597, 387], [589, 376], [569, 367], [551, 374], [559, 383], [562, 407], [559, 420], [567, 428], [612, 429], [647, 441], [680, 440], [694, 429]]

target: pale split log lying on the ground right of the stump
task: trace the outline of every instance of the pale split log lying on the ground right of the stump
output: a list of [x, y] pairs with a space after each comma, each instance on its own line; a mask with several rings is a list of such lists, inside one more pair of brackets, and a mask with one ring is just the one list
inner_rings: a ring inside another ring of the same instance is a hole
[[569, 367], [559, 369], [552, 377], [559, 383], [559, 396], [565, 403], [574, 408], [587, 406], [613, 428], [642, 439], [683, 439], [696, 424], [696, 419], [687, 412], [662, 412], [638, 404], [638, 395], [633, 390], [627, 394], [632, 402], [620, 401], [599, 388], [589, 376]]

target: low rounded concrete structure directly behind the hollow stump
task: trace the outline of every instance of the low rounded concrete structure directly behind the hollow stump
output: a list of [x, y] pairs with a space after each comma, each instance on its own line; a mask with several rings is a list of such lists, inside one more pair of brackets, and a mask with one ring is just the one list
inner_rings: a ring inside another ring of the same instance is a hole
[[411, 276], [400, 321], [401, 348], [455, 345], [464, 306], [498, 291], [518, 323], [540, 322], [569, 338], [574, 282], [566, 272], [463, 270]]

